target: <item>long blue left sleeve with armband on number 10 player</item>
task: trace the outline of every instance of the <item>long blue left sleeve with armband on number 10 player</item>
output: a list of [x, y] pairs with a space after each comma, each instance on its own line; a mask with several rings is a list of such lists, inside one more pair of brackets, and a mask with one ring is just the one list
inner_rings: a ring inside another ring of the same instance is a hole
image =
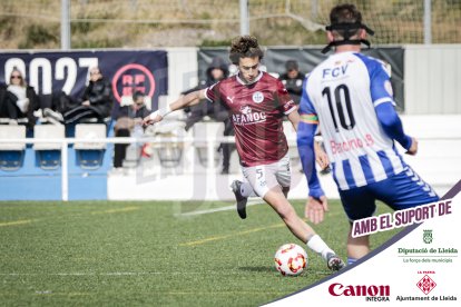
[[303, 93], [300, 102], [301, 121], [297, 126], [297, 151], [300, 152], [304, 175], [307, 179], [308, 196], [320, 198], [324, 196], [315, 169], [314, 136], [317, 129], [317, 115], [306, 92], [306, 81], [303, 85]]

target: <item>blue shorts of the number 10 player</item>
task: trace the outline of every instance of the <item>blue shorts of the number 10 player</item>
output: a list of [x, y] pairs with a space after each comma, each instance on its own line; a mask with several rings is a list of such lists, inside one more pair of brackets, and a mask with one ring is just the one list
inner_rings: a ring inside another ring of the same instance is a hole
[[402, 210], [434, 202], [439, 196], [410, 167], [382, 181], [350, 190], [340, 190], [341, 201], [349, 219], [356, 220], [373, 216], [376, 200], [393, 210]]

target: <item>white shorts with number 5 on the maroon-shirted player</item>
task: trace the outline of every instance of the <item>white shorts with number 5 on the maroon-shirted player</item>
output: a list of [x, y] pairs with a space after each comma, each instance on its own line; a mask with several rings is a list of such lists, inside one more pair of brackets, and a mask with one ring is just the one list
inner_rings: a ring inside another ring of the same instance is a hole
[[259, 197], [264, 197], [269, 189], [276, 186], [290, 188], [292, 181], [288, 154], [275, 164], [242, 167], [242, 172]]

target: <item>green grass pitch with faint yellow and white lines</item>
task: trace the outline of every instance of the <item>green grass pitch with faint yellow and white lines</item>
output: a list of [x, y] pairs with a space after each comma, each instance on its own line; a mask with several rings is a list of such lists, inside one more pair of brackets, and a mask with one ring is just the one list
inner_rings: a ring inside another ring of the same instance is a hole
[[[304, 202], [293, 204], [302, 215]], [[307, 270], [279, 275], [276, 249], [301, 242], [267, 205], [248, 207], [246, 220], [210, 212], [232, 205], [0, 202], [0, 305], [257, 306], [331, 274], [308, 250]], [[347, 228], [330, 200], [315, 229], [344, 259]], [[395, 232], [374, 235], [373, 248]]]

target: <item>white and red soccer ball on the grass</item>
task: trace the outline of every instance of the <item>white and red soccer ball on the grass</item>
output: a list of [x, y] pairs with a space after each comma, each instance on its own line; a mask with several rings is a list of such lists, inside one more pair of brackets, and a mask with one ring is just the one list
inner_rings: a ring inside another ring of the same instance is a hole
[[283, 276], [300, 275], [307, 266], [307, 254], [298, 245], [285, 244], [275, 252], [275, 268]]

